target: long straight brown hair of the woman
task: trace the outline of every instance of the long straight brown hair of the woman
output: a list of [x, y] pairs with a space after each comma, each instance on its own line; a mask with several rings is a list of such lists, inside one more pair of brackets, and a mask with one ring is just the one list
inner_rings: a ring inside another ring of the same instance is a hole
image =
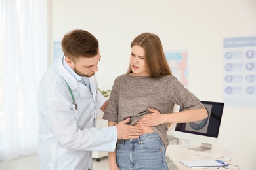
[[[142, 33], [133, 39], [131, 47], [140, 46], [145, 51], [146, 71], [150, 78], [161, 78], [165, 75], [172, 75], [160, 38], [153, 33]], [[133, 73], [131, 66], [127, 73]]]

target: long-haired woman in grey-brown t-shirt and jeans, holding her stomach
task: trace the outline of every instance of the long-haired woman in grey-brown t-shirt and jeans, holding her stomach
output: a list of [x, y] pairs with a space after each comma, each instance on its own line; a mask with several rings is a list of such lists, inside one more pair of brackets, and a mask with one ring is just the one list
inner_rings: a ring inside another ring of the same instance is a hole
[[[175, 103], [184, 111], [173, 113]], [[103, 118], [108, 126], [131, 118], [128, 124], [145, 131], [138, 139], [117, 141], [109, 152], [111, 170], [165, 170], [169, 124], [202, 120], [207, 111], [171, 74], [159, 37], [142, 33], [131, 42], [129, 70], [114, 81]]]

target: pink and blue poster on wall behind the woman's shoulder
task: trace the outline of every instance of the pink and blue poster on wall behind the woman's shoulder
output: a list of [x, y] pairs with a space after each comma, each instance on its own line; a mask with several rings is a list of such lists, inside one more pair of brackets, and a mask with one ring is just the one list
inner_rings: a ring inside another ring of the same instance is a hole
[[188, 50], [165, 52], [171, 73], [188, 88]]

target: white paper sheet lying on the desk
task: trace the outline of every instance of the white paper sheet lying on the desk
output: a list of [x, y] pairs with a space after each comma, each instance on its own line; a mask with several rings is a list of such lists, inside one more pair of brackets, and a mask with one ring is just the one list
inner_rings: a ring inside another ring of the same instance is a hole
[[199, 160], [199, 161], [180, 160], [180, 161], [187, 167], [222, 167], [224, 166], [223, 164], [215, 160]]

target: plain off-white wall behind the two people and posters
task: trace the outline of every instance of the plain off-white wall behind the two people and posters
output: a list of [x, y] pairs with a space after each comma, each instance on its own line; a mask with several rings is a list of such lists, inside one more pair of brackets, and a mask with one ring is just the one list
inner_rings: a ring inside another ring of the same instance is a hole
[[[164, 50], [188, 49], [191, 92], [201, 100], [223, 101], [223, 38], [256, 35], [255, 0], [53, 0], [49, 7], [51, 50], [53, 41], [72, 29], [85, 29], [100, 42], [102, 90], [127, 71], [133, 38], [149, 31]], [[254, 161], [255, 120], [256, 101], [254, 108], [225, 106], [218, 144]]]

